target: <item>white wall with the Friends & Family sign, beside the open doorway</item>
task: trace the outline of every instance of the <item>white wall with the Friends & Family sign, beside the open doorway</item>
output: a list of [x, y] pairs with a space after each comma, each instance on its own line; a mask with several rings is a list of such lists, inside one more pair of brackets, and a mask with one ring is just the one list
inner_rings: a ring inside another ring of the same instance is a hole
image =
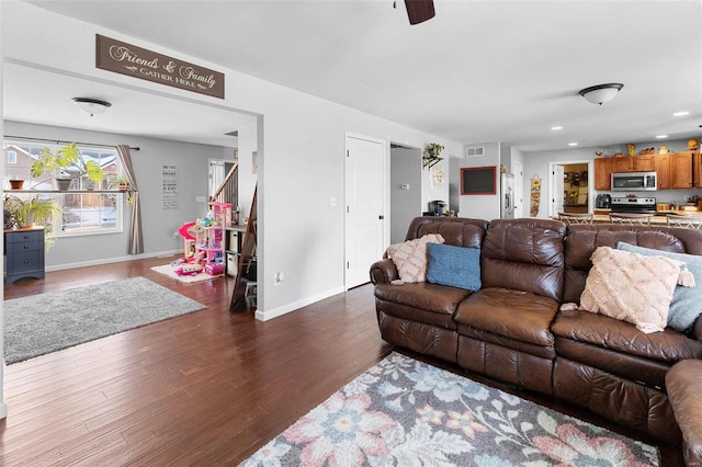
[[[5, 3], [4, 7], [1, 47], [8, 59], [25, 66], [66, 70], [83, 79], [128, 83], [144, 92], [158, 91], [174, 99], [211, 102], [208, 96], [95, 69], [94, 35], [103, 34], [222, 70], [227, 89], [227, 98], [222, 104], [262, 116], [257, 125], [256, 147], [249, 148], [259, 152], [257, 317], [261, 319], [343, 289], [344, 209], [341, 201], [347, 132], [420, 148], [433, 141], [444, 145], [446, 155], [462, 152], [462, 146], [455, 141], [223, 69], [217, 64], [161, 45], [144, 43], [24, 2]], [[26, 34], [26, 24], [32, 24], [32, 34]], [[242, 139], [241, 134], [239, 139]], [[242, 155], [249, 149], [240, 146]], [[340, 203], [331, 207], [330, 197], [337, 197]], [[389, 224], [387, 227], [389, 234]], [[285, 281], [276, 286], [273, 286], [274, 272], [285, 274]]]

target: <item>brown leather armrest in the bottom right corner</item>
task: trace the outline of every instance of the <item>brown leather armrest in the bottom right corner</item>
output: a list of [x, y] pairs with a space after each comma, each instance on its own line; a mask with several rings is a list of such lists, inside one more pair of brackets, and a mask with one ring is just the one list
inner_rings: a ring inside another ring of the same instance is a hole
[[682, 360], [666, 374], [666, 390], [688, 466], [702, 466], [702, 360]]

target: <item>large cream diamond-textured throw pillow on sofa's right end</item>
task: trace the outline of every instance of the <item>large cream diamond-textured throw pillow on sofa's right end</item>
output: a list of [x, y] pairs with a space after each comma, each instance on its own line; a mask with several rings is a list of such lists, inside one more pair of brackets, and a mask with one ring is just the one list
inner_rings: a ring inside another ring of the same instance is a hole
[[664, 330], [680, 262], [609, 247], [590, 259], [580, 309], [631, 322], [644, 333]]

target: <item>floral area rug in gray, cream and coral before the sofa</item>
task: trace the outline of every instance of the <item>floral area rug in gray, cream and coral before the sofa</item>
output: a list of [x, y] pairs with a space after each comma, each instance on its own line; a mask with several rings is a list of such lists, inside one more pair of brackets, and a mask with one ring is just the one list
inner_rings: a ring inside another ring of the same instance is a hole
[[242, 466], [657, 466], [658, 451], [393, 353]]

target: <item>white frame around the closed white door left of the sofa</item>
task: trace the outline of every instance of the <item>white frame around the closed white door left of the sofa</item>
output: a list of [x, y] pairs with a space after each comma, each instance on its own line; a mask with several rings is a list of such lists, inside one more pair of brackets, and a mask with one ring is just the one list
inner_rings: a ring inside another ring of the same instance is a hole
[[[361, 135], [358, 133], [351, 133], [351, 132], [344, 132], [343, 135], [343, 263], [342, 263], [342, 267], [343, 267], [343, 289], [344, 291], [349, 291], [350, 288], [353, 288], [354, 286], [349, 286], [348, 284], [348, 274], [347, 274], [347, 261], [348, 259], [348, 244], [349, 244], [349, 239], [350, 239], [350, 234], [349, 234], [349, 225], [348, 225], [348, 216], [347, 216], [347, 206], [349, 205], [349, 200], [347, 200], [347, 187], [349, 186], [349, 168], [348, 168], [348, 159], [347, 159], [347, 151], [349, 150], [349, 138], [354, 138], [354, 139], [363, 139], [366, 141], [371, 141], [371, 143], [377, 143], [383, 147], [383, 155], [382, 157], [382, 161], [381, 161], [381, 167], [383, 168], [383, 173], [381, 174], [381, 180], [382, 180], [382, 192], [383, 192], [383, 200], [382, 200], [382, 209], [383, 209], [383, 221], [381, 223], [381, 229], [382, 229], [382, 238], [383, 238], [383, 244], [385, 246], [385, 248], [387, 248], [387, 246], [389, 246], [389, 151], [390, 151], [390, 144], [388, 139], [381, 139], [381, 138], [375, 138], [372, 136], [367, 136], [367, 135]], [[378, 258], [380, 260], [381, 258]]]

